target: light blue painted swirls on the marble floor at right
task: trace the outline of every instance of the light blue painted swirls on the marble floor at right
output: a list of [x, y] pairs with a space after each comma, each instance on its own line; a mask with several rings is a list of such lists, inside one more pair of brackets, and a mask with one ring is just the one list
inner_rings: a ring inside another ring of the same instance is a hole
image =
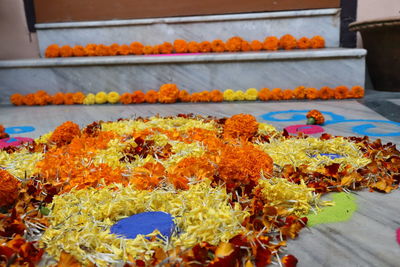
[[[309, 110], [284, 110], [284, 111], [273, 111], [266, 114], [261, 115], [261, 118], [266, 121], [275, 121], [275, 122], [289, 122], [289, 121], [304, 121], [306, 120], [306, 114]], [[348, 123], [348, 122], [358, 122], [359, 125], [353, 126], [351, 130], [358, 135], [367, 135], [374, 137], [385, 137], [385, 136], [400, 136], [400, 131], [389, 132], [389, 133], [379, 133], [375, 131], [371, 131], [371, 129], [379, 128], [378, 125], [375, 124], [390, 124], [394, 126], [398, 126], [400, 128], [400, 123], [394, 121], [387, 120], [350, 120], [346, 119], [342, 115], [338, 115], [329, 111], [321, 111], [322, 114], [328, 115], [330, 119], [326, 120], [324, 125], [332, 125], [337, 123]], [[291, 118], [289, 119], [280, 119], [276, 118], [276, 115], [280, 114], [290, 114]], [[374, 123], [374, 124], [371, 124]]]

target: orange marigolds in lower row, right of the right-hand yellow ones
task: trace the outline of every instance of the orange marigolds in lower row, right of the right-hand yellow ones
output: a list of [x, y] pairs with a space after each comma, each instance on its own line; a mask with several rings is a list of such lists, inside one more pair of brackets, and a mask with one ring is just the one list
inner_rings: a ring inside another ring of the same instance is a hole
[[336, 88], [329, 88], [327, 86], [321, 89], [306, 88], [299, 86], [294, 90], [281, 88], [263, 88], [258, 93], [258, 98], [262, 101], [268, 100], [291, 100], [291, 99], [349, 99], [349, 98], [362, 98], [364, 97], [364, 88], [361, 86], [353, 86], [349, 89], [347, 86], [341, 85]]

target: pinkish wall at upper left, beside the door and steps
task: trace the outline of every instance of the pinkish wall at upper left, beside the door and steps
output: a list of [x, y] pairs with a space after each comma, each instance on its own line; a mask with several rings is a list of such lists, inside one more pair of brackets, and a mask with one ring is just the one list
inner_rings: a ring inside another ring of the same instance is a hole
[[0, 0], [0, 60], [37, 58], [36, 34], [30, 34], [22, 0]]

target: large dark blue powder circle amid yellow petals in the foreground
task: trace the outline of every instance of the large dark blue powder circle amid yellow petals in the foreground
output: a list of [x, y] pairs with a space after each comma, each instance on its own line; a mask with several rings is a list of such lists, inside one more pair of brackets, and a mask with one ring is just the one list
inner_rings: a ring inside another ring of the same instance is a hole
[[137, 235], [148, 235], [156, 229], [170, 238], [175, 230], [173, 216], [162, 211], [149, 211], [119, 220], [111, 227], [111, 233], [134, 239]]

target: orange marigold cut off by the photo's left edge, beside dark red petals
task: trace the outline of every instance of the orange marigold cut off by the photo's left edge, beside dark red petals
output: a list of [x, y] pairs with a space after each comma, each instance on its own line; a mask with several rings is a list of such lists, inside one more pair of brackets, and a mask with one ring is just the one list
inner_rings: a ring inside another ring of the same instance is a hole
[[0, 168], [0, 184], [0, 207], [13, 204], [19, 194], [20, 182], [6, 170]]

